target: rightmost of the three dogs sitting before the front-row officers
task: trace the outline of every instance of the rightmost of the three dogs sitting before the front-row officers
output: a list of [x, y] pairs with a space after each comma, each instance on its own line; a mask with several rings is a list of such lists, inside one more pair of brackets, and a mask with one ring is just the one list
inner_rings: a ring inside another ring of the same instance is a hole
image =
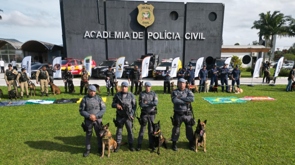
[[194, 133], [195, 152], [198, 152], [198, 149], [197, 149], [198, 146], [204, 147], [204, 152], [207, 152], [206, 151], [206, 133], [205, 133], [206, 122], [207, 120], [205, 120], [204, 122], [202, 122], [200, 119], [198, 120], [198, 125]]

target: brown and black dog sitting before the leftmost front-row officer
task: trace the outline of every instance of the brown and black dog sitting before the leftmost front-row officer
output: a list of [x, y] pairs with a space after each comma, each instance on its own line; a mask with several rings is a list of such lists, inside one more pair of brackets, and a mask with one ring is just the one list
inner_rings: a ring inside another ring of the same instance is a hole
[[117, 148], [117, 142], [113, 139], [112, 134], [109, 131], [109, 123], [107, 123], [106, 125], [103, 125], [102, 122], [100, 122], [100, 124], [102, 125], [99, 132], [99, 136], [102, 141], [102, 155], [100, 159], [102, 159], [104, 156], [105, 146], [108, 147], [108, 150], [109, 150], [108, 158], [110, 158], [111, 157], [110, 151], [112, 150], [112, 152], [114, 152], [114, 150]]

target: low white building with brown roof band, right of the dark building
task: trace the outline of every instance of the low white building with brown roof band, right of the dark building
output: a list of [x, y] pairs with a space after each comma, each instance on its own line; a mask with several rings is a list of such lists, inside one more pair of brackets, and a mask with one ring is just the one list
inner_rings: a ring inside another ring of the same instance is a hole
[[254, 61], [258, 59], [259, 52], [268, 52], [270, 47], [262, 45], [223, 45], [221, 47], [221, 57], [237, 56], [241, 59], [242, 68], [251, 67]]

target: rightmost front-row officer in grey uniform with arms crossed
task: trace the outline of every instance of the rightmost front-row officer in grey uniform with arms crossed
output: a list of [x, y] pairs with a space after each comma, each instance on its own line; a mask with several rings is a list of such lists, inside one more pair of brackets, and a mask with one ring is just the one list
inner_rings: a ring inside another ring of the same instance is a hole
[[186, 138], [189, 141], [189, 149], [194, 150], [194, 138], [193, 138], [193, 126], [192, 126], [192, 110], [190, 109], [190, 103], [195, 100], [194, 94], [185, 88], [186, 83], [183, 78], [180, 78], [177, 82], [178, 88], [174, 90], [171, 94], [171, 100], [174, 104], [174, 126], [172, 129], [172, 135], [171, 135], [171, 141], [172, 143], [172, 149], [174, 151], [177, 151], [176, 142], [179, 138], [179, 128], [181, 126], [181, 123], [185, 123], [185, 132], [186, 132]]

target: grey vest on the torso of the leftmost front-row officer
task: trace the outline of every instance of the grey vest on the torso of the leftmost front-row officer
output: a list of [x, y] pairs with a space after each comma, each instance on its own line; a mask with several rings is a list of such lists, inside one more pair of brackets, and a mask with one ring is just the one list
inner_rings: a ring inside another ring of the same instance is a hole
[[88, 95], [84, 96], [85, 98], [85, 111], [89, 115], [95, 115], [100, 111], [100, 100], [99, 96], [95, 95], [94, 98], [90, 98]]

